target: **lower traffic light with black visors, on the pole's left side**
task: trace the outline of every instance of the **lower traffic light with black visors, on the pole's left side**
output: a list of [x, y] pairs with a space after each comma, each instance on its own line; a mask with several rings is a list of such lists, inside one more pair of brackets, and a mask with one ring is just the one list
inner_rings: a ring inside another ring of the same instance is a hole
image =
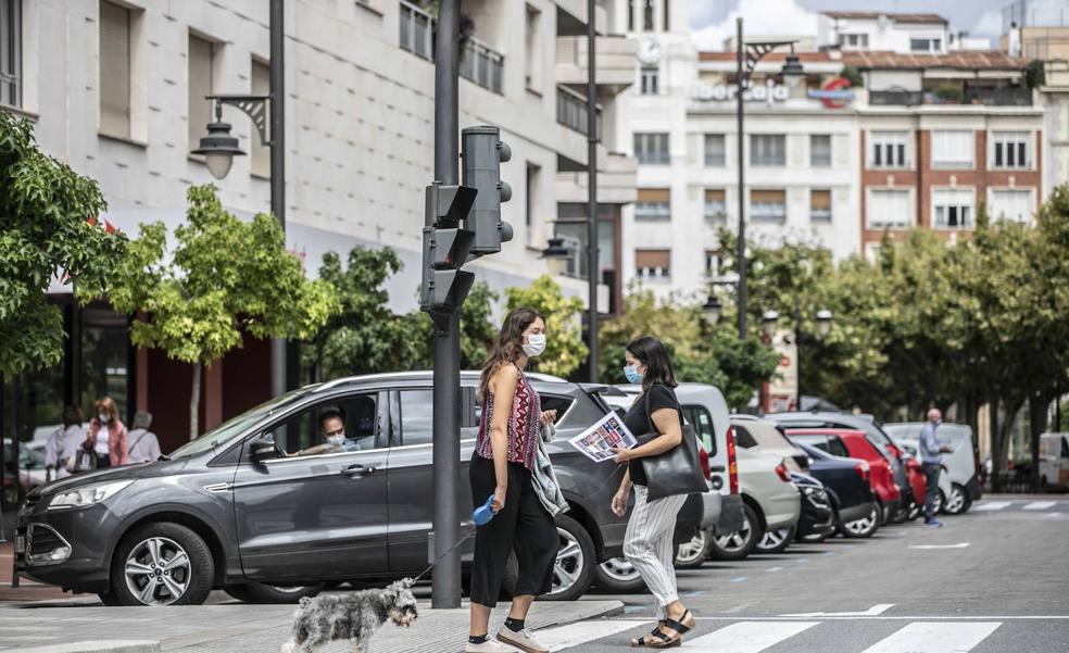
[[423, 229], [423, 285], [419, 306], [424, 311], [450, 312], [461, 307], [475, 275], [461, 266], [468, 259], [475, 235], [460, 228], [475, 201], [476, 190], [466, 186], [427, 187]]

